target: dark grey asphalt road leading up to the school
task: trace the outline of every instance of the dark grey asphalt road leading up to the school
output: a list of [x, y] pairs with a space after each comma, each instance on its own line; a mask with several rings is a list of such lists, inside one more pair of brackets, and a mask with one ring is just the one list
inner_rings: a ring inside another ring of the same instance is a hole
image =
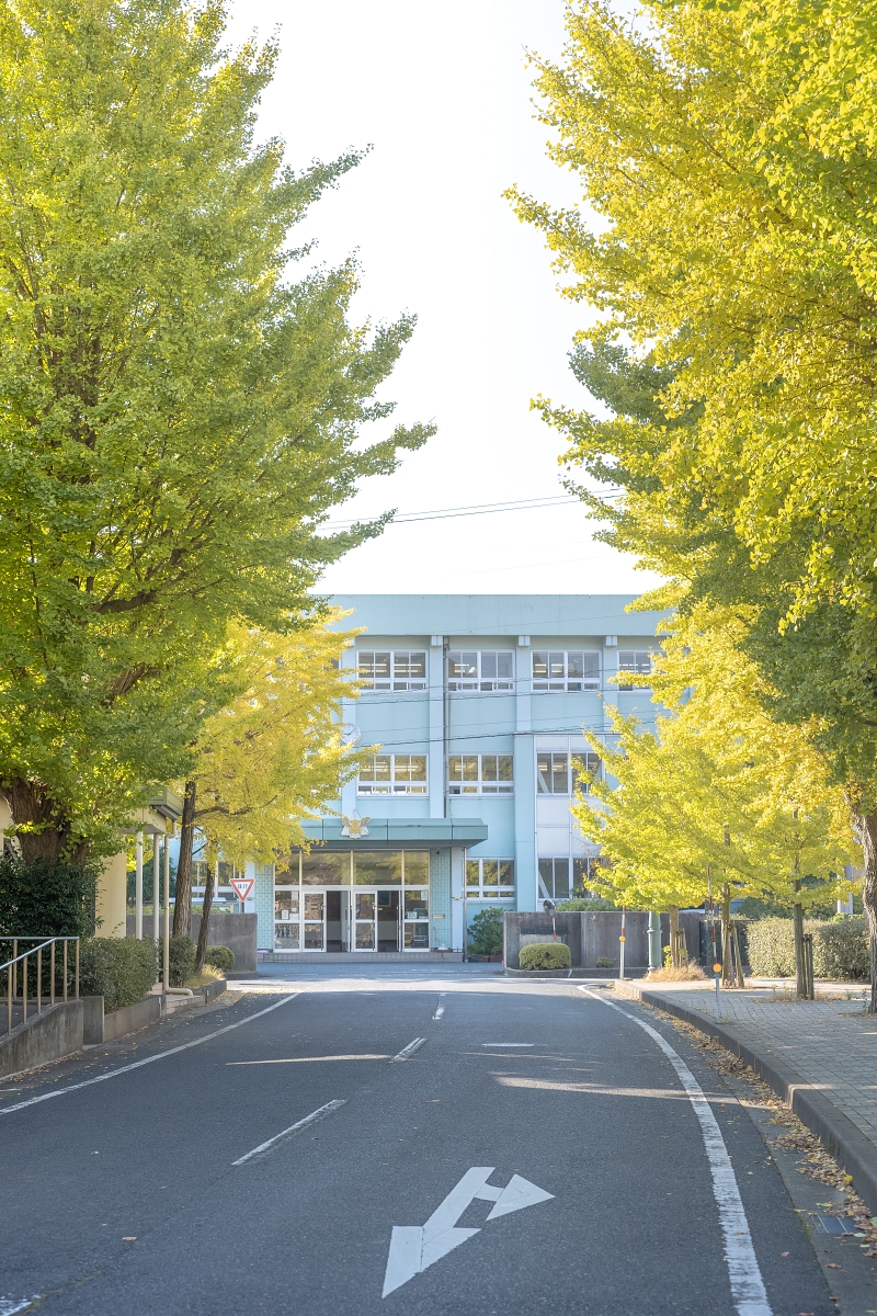
[[639, 1007], [452, 971], [266, 986], [0, 1094], [0, 1316], [838, 1311], [759, 1130], [661, 1028], [767, 1300], [732, 1291], [724, 1153]]

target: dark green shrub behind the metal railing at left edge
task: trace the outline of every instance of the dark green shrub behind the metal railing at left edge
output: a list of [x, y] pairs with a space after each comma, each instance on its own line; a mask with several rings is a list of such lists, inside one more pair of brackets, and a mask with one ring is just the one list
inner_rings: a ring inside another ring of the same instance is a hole
[[95, 932], [93, 865], [0, 857], [0, 933], [89, 937]]

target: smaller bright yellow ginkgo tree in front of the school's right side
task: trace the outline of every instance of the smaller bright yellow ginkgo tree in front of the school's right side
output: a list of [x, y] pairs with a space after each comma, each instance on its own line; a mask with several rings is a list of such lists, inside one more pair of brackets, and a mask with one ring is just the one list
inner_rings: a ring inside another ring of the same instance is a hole
[[[611, 861], [606, 880], [627, 903], [701, 904], [711, 874], [726, 978], [732, 896], [792, 905], [801, 933], [806, 905], [824, 900], [826, 887], [843, 890], [839, 874], [855, 849], [824, 761], [799, 728], [777, 726], [765, 712], [757, 667], [736, 642], [744, 629], [744, 619], [706, 617], [705, 609], [671, 626], [652, 675], [639, 678], [668, 713], [653, 734], [617, 711], [614, 744], [590, 734], [605, 776], [573, 805], [580, 829]], [[806, 876], [822, 880], [805, 888]]]

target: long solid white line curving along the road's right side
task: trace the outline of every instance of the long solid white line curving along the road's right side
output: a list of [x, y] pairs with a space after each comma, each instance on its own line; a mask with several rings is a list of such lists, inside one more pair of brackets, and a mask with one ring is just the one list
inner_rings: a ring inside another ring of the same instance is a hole
[[710, 1103], [706, 1100], [703, 1088], [678, 1051], [675, 1051], [667, 1038], [661, 1037], [655, 1028], [644, 1023], [644, 1020], [636, 1019], [635, 1015], [630, 1015], [626, 1009], [622, 1009], [614, 1000], [606, 1000], [605, 996], [589, 991], [588, 987], [580, 987], [579, 991], [584, 992], [585, 996], [593, 996], [594, 1000], [609, 1005], [610, 1009], [617, 1009], [619, 1015], [623, 1015], [625, 1019], [631, 1019], [634, 1024], [639, 1024], [643, 1032], [648, 1033], [652, 1041], [657, 1042], [676, 1070], [703, 1134], [706, 1159], [710, 1163], [710, 1173], [713, 1175], [713, 1195], [719, 1208], [724, 1259], [728, 1267], [728, 1279], [731, 1280], [731, 1300], [739, 1316], [772, 1316], [759, 1259], [755, 1255], [752, 1245], [749, 1221], [746, 1217], [740, 1190], [734, 1177], [734, 1166], [731, 1165], [722, 1130], [713, 1115]]

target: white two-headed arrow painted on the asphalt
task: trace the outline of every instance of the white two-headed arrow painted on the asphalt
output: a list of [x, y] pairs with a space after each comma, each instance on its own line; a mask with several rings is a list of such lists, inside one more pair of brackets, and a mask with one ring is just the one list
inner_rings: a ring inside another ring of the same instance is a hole
[[522, 1211], [525, 1207], [535, 1207], [538, 1202], [554, 1198], [552, 1192], [544, 1192], [535, 1183], [522, 1179], [519, 1174], [514, 1174], [505, 1188], [496, 1188], [488, 1183], [493, 1170], [493, 1166], [473, 1166], [467, 1170], [422, 1228], [421, 1225], [393, 1225], [381, 1298], [401, 1288], [433, 1262], [447, 1257], [448, 1252], [454, 1252], [467, 1238], [481, 1233], [480, 1229], [456, 1228], [458, 1220], [476, 1198], [493, 1203], [488, 1220], [506, 1216], [511, 1211]]

